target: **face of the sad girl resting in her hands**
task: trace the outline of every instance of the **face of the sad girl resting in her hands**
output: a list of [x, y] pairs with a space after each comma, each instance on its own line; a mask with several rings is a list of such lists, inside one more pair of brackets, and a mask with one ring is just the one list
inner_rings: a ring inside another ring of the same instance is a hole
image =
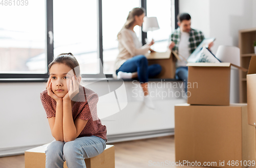
[[50, 79], [52, 91], [59, 97], [63, 98], [69, 91], [69, 82], [74, 76], [73, 70], [63, 63], [55, 63], [50, 69]]

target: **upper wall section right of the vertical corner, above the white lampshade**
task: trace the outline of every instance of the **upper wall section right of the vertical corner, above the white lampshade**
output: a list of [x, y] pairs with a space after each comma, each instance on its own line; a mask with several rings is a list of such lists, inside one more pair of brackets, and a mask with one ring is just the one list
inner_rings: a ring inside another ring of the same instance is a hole
[[219, 45], [238, 46], [239, 30], [253, 27], [253, 1], [210, 0], [210, 36], [216, 37], [215, 53]]

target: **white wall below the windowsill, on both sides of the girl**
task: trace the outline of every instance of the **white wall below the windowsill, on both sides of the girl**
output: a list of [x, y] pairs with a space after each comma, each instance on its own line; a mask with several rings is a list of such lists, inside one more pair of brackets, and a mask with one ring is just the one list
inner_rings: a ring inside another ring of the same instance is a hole
[[[93, 83], [92, 86], [98, 88], [99, 92], [108, 88], [101, 81]], [[155, 97], [155, 93], [180, 92], [181, 89], [172, 88], [170, 85], [168, 87], [161, 85], [150, 87], [149, 90], [154, 93], [153, 100], [156, 106], [156, 109], [152, 110], [145, 107], [143, 97], [137, 96], [139, 91], [142, 91], [138, 87], [139, 82], [124, 82], [124, 86], [127, 93], [127, 106], [114, 115], [101, 118], [102, 124], [107, 127], [108, 136], [174, 129], [174, 106], [185, 103], [186, 100], [181, 99], [181, 97], [161, 97], [161, 94]], [[40, 101], [39, 93], [45, 90], [45, 87], [46, 83], [43, 82], [0, 83], [0, 157], [22, 153], [22, 150], [24, 152], [26, 148], [30, 149], [29, 146], [42, 145], [54, 139], [51, 135], [46, 112]], [[94, 88], [92, 89], [95, 90]], [[98, 93], [97, 90], [95, 91]], [[126, 95], [119, 94], [118, 100]], [[116, 103], [115, 96], [114, 101]], [[97, 108], [98, 114], [113, 112], [113, 105], [104, 104], [104, 102], [102, 104], [100, 96]], [[169, 133], [173, 134], [173, 132]], [[147, 137], [154, 136], [156, 135]], [[128, 137], [121, 140], [132, 139]]]

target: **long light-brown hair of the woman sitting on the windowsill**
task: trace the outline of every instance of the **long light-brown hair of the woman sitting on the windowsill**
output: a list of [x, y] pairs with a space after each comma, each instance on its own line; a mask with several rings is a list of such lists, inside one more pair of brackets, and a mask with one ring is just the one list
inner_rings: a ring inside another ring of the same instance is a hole
[[[145, 13], [145, 9], [144, 8], [133, 8], [129, 14], [128, 14], [128, 17], [126, 19], [126, 22], [124, 23], [123, 27], [121, 30], [123, 29], [129, 29], [134, 21], [135, 21], [135, 16], [140, 16], [142, 15], [143, 13]], [[118, 35], [120, 34], [121, 30], [119, 31], [119, 33], [117, 34], [117, 38], [118, 38]]]

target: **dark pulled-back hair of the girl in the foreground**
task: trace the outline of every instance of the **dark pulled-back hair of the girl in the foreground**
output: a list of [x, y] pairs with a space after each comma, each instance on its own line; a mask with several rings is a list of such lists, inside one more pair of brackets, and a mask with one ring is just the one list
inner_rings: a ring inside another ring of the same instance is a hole
[[79, 67], [79, 63], [76, 60], [76, 58], [73, 56], [73, 54], [71, 53], [62, 53], [60, 55], [58, 55], [49, 65], [48, 65], [48, 70], [50, 73], [50, 69], [52, 67], [52, 65], [54, 64], [60, 64], [63, 63], [67, 66], [69, 66], [71, 69], [73, 69], [74, 74], [79, 77], [80, 76], [80, 67]]

